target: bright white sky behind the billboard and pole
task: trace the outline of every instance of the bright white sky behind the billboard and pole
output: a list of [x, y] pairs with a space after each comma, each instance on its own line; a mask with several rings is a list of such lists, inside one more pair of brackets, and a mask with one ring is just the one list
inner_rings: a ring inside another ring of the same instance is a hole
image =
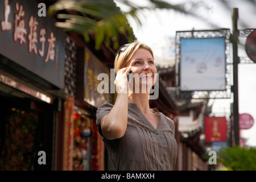
[[[148, 5], [147, 0], [132, 2], [140, 3], [141, 5]], [[185, 3], [185, 8], [194, 8], [193, 12], [203, 16], [207, 21], [193, 18], [192, 16], [177, 13], [174, 10], [155, 10], [144, 11], [140, 16], [142, 26], [138, 26], [132, 18], [128, 18], [135, 36], [140, 42], [146, 43], [150, 46], [156, 56], [164, 56], [161, 51], [166, 47], [167, 38], [175, 38], [176, 31], [192, 30], [213, 30], [216, 28], [229, 28], [232, 32], [232, 11], [233, 8], [238, 8], [238, 29], [256, 28], [256, 13], [255, 6], [252, 6], [245, 0], [226, 0], [230, 9], [217, 0], [202, 1], [200, 6], [192, 6], [192, 2], [201, 2], [199, 0], [166, 0], [174, 4]], [[117, 2], [117, 5], [118, 4]], [[256, 1], [255, 1], [256, 5]], [[126, 7], [121, 6], [121, 10], [126, 11]], [[212, 26], [212, 24], [216, 26]], [[241, 42], [245, 42], [246, 38], [240, 38]], [[232, 47], [231, 47], [232, 48]], [[247, 57], [243, 47], [239, 47], [238, 56]], [[256, 63], [238, 64], [238, 104], [239, 113], [250, 114], [254, 118], [254, 125], [250, 129], [241, 129], [240, 137], [246, 139], [246, 144], [249, 146], [256, 146]], [[213, 104], [213, 113], [225, 114], [230, 113], [230, 99], [216, 99]]]

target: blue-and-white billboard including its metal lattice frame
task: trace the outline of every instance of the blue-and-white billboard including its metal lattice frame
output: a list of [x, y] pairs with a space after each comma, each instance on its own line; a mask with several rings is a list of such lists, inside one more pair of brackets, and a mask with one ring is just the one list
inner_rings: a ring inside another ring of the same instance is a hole
[[230, 98], [230, 30], [176, 31], [178, 98]]

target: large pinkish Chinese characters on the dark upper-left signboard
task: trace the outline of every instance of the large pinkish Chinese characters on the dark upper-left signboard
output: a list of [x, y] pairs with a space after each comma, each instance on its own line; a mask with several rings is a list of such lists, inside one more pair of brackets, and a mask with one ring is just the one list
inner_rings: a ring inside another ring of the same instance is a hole
[[[47, 63], [49, 60], [55, 61], [55, 42], [56, 37], [54, 33], [51, 31], [46, 38], [46, 28], [39, 27], [39, 36], [38, 36], [38, 20], [36, 16], [31, 15], [27, 20], [24, 19], [26, 11], [23, 8], [21, 3], [15, 2], [15, 9], [11, 9], [9, 0], [4, 1], [4, 5], [0, 6], [3, 8], [4, 19], [1, 21], [1, 30], [3, 31], [11, 31], [13, 28], [13, 41], [14, 43], [19, 42], [20, 45], [28, 44], [28, 52], [34, 53], [35, 55], [39, 55], [40, 57], [44, 57], [44, 63]], [[0, 9], [0, 13], [1, 13]], [[14, 13], [14, 16], [11, 16]], [[14, 24], [12, 25], [10, 17], [13, 17]], [[28, 24], [28, 30], [25, 25]], [[46, 42], [47, 41], [47, 42]], [[40, 47], [38, 47], [37, 43], [40, 43]], [[45, 46], [48, 48], [45, 49]], [[46, 50], [46, 54], [44, 54]], [[55, 63], [55, 67], [57, 67], [57, 61]]]

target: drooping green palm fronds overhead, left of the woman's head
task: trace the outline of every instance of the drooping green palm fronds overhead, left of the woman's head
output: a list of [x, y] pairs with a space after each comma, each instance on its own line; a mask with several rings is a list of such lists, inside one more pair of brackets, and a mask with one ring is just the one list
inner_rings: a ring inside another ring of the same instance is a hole
[[[57, 14], [57, 18], [65, 21], [57, 22], [56, 26], [83, 35], [86, 42], [89, 42], [90, 35], [94, 35], [95, 49], [100, 49], [104, 41], [109, 47], [110, 41], [117, 40], [119, 34], [127, 34], [129, 41], [133, 40], [132, 28], [113, 1], [59, 0], [49, 7], [48, 13], [52, 15], [61, 10], [75, 14]], [[113, 42], [114, 48], [117, 49], [118, 42]]]

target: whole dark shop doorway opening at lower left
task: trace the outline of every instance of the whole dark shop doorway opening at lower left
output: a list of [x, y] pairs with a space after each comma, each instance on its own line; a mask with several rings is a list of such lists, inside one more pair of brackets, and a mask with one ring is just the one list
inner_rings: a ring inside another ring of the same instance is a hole
[[[0, 170], [51, 170], [52, 105], [0, 92]], [[39, 164], [39, 151], [46, 164]]]

